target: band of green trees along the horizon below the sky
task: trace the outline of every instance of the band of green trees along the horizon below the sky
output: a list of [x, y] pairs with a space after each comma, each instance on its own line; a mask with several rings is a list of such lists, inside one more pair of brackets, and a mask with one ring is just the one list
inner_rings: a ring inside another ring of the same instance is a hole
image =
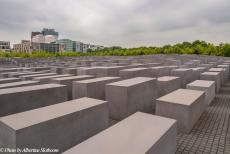
[[1, 52], [0, 57], [74, 57], [74, 56], [137, 56], [151, 54], [201, 54], [230, 57], [230, 44], [221, 43], [214, 45], [205, 41], [196, 40], [192, 43], [182, 42], [175, 45], [165, 45], [163, 47], [139, 47], [139, 48], [122, 48], [119, 46], [107, 47], [102, 50], [88, 50], [82, 52], [60, 52], [52, 53], [45, 51], [34, 51], [32, 53], [24, 52]]

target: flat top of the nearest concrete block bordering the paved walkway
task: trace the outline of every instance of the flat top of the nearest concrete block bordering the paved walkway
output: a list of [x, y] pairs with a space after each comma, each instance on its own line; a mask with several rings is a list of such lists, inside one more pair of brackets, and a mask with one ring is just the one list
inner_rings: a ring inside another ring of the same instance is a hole
[[203, 91], [189, 90], [189, 89], [178, 89], [163, 97], [158, 98], [158, 101], [175, 103], [180, 105], [190, 106], [200, 96], [204, 94]]

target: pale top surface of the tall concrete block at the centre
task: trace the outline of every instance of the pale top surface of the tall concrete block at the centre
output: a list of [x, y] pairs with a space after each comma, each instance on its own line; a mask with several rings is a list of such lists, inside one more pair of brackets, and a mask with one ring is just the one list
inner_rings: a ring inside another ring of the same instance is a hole
[[137, 85], [143, 82], [151, 81], [151, 80], [156, 80], [156, 78], [149, 78], [149, 77], [136, 77], [136, 78], [131, 78], [127, 80], [122, 80], [118, 82], [113, 82], [107, 85], [114, 85], [114, 86], [120, 86], [120, 87], [129, 87], [133, 85]]

